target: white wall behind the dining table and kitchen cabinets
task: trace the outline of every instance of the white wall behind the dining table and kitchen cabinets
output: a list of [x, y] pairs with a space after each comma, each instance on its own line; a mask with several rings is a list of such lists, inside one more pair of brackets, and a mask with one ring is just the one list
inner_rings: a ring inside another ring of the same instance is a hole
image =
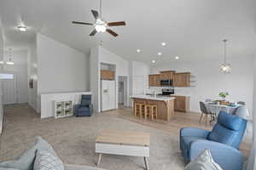
[[245, 101], [247, 108], [253, 110], [253, 57], [242, 57], [232, 59], [230, 64], [232, 72], [230, 75], [223, 75], [218, 71], [222, 60], [178, 60], [168, 65], [155, 65], [151, 73], [158, 71], [190, 71], [195, 76], [195, 83], [191, 88], [177, 88], [180, 94], [191, 94], [191, 111], [200, 111], [199, 101], [205, 99], [218, 99], [218, 93], [228, 91], [230, 101]]

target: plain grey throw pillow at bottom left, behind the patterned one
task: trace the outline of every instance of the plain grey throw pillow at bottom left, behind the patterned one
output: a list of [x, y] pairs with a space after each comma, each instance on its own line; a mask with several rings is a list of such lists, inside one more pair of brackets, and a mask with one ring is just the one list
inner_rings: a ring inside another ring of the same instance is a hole
[[36, 138], [36, 142], [32, 144], [27, 150], [22, 152], [20, 156], [15, 157], [12, 161], [3, 161], [0, 162], [0, 167], [5, 168], [14, 168], [20, 170], [32, 170], [33, 169], [33, 162], [36, 158], [36, 151], [40, 150], [47, 150], [51, 154], [55, 155], [55, 150], [41, 137]]

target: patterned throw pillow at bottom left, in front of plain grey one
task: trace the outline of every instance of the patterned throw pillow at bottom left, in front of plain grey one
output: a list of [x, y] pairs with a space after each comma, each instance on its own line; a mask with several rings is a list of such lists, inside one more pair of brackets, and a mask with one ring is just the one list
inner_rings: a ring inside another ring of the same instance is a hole
[[58, 156], [48, 151], [38, 150], [34, 170], [64, 170], [64, 165]]

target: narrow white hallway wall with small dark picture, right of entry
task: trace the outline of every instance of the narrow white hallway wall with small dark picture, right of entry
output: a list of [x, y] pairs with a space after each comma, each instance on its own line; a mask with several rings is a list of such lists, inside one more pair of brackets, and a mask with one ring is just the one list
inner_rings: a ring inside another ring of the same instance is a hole
[[29, 82], [33, 80], [33, 88], [28, 88], [28, 103], [38, 112], [38, 53], [37, 53], [37, 36], [32, 40], [32, 43], [27, 51], [27, 75]]

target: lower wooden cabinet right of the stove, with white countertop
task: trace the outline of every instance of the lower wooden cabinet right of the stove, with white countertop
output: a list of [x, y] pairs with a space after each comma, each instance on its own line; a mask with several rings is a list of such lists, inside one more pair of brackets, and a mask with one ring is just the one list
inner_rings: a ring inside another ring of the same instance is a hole
[[175, 97], [174, 111], [183, 111], [183, 112], [189, 111], [189, 100], [190, 100], [189, 96], [172, 95], [172, 97]]

